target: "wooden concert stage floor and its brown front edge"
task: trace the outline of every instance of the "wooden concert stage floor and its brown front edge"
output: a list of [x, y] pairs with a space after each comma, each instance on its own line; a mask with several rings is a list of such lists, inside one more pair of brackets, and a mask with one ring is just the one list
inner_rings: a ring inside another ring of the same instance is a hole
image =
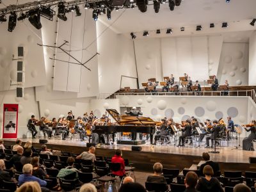
[[[21, 139], [22, 145], [28, 139]], [[4, 140], [4, 145], [13, 145], [15, 140]], [[42, 144], [38, 139], [32, 140], [35, 148], [40, 148]], [[234, 147], [234, 142], [229, 147], [217, 147], [220, 154], [210, 154], [212, 161], [220, 163], [221, 170], [251, 170], [256, 171], [256, 164], [249, 163], [249, 157], [256, 157], [254, 151], [244, 151], [241, 147]], [[232, 145], [232, 146], [231, 146]], [[95, 155], [111, 157], [115, 154], [115, 149], [120, 148], [124, 159], [129, 159], [130, 163], [141, 171], [152, 170], [156, 162], [161, 162], [165, 168], [189, 168], [192, 164], [198, 164], [202, 160], [202, 153], [212, 151], [212, 148], [201, 147], [175, 147], [173, 145], [140, 145], [141, 152], [132, 151], [131, 145], [100, 145], [97, 146]], [[86, 148], [86, 142], [76, 140], [48, 140], [47, 147], [54, 150], [62, 150], [74, 153], [81, 153]]]

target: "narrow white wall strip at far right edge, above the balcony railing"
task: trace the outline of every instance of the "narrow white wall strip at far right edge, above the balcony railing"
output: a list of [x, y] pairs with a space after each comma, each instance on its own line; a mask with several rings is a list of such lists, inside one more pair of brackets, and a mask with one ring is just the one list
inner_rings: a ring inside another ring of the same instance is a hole
[[256, 31], [253, 31], [249, 42], [249, 85], [256, 85]]

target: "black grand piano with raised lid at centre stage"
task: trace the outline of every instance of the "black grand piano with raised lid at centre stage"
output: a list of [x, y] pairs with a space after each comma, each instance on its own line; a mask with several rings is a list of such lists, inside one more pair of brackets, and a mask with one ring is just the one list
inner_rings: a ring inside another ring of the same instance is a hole
[[[156, 130], [156, 122], [149, 117], [144, 116], [129, 116], [129, 115], [120, 115], [116, 109], [106, 109], [109, 115], [115, 120], [115, 124], [111, 125], [96, 125], [93, 132], [98, 134], [111, 134], [113, 132], [141, 132], [150, 134], [150, 143], [153, 142], [153, 134]], [[117, 141], [118, 144], [121, 144], [122, 141]], [[122, 143], [122, 144], [131, 144], [136, 145], [138, 142], [132, 141], [132, 143]], [[144, 141], [145, 143], [145, 141]], [[137, 145], [140, 145], [139, 143]]]

